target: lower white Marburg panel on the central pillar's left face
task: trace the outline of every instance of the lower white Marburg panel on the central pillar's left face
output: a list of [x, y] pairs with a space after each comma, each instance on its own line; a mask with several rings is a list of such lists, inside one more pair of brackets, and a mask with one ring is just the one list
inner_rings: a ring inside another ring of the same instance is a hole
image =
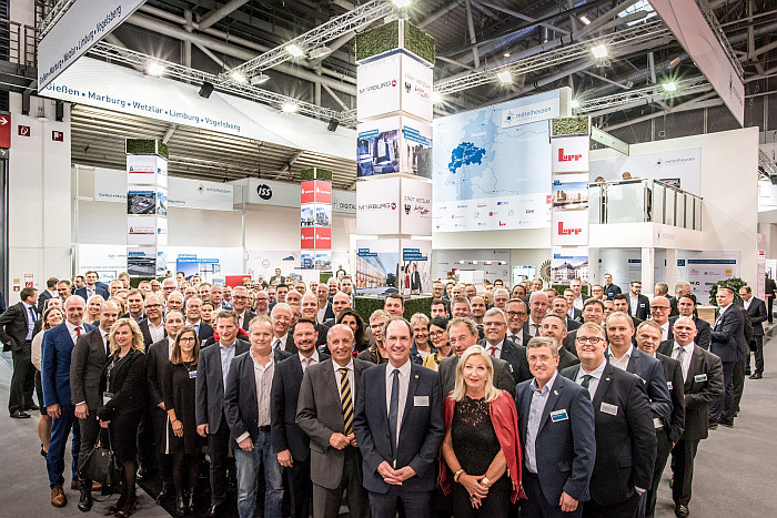
[[375, 179], [356, 184], [356, 234], [400, 233], [400, 179]]

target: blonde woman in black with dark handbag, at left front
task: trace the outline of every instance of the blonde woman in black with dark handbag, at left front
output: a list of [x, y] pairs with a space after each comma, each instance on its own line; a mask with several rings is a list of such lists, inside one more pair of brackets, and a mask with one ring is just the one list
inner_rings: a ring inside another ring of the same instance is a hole
[[109, 334], [111, 355], [100, 388], [103, 406], [98, 408], [100, 426], [108, 428], [117, 464], [122, 470], [121, 496], [107, 515], [130, 516], [138, 507], [135, 473], [138, 426], [143, 415], [145, 354], [143, 334], [132, 318], [119, 318]]

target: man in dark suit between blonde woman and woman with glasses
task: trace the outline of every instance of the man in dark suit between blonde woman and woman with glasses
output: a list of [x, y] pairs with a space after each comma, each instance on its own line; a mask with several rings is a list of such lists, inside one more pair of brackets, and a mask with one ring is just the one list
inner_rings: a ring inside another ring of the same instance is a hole
[[172, 456], [168, 454], [168, 413], [164, 408], [164, 368], [173, 354], [173, 344], [183, 328], [183, 314], [171, 311], [164, 321], [164, 337], [151, 344], [145, 356], [145, 379], [149, 395], [149, 412], [147, 423], [153, 429], [155, 456], [162, 477], [162, 490], [157, 495], [161, 502], [175, 495], [173, 487]]

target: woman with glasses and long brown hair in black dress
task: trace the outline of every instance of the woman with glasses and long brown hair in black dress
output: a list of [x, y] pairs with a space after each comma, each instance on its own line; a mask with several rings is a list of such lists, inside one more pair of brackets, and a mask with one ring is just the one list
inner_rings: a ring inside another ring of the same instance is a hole
[[200, 475], [202, 443], [196, 434], [194, 387], [200, 341], [193, 327], [184, 327], [175, 337], [170, 363], [164, 367], [164, 408], [170, 417], [168, 437], [173, 455], [175, 512], [194, 512], [194, 486]]

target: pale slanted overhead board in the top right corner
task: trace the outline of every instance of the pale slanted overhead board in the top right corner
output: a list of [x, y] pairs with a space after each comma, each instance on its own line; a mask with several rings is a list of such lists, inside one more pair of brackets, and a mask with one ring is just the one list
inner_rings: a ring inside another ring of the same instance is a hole
[[650, 6], [741, 125], [745, 121], [745, 85], [698, 4], [650, 0]]

